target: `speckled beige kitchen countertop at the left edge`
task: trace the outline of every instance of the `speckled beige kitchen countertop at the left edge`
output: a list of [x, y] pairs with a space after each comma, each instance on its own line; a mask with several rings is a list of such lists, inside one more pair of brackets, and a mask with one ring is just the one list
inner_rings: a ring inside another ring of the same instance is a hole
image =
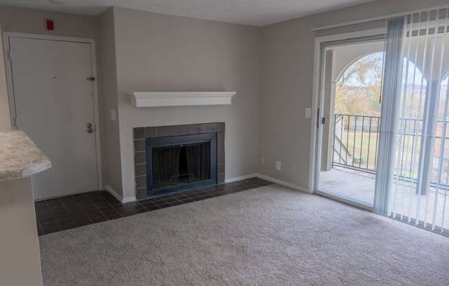
[[50, 159], [23, 131], [0, 130], [0, 180], [29, 177], [51, 166]]

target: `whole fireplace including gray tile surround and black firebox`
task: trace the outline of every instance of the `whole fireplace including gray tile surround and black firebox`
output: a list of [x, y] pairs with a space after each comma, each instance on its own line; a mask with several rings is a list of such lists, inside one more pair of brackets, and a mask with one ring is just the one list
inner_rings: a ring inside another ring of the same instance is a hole
[[225, 182], [225, 122], [133, 131], [138, 199]]

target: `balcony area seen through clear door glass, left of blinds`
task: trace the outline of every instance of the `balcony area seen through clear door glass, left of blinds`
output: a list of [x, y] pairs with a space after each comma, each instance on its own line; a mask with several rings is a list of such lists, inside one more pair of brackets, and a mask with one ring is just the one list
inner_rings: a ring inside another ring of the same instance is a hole
[[374, 201], [380, 118], [335, 114], [331, 122], [331, 150], [324, 152], [331, 159], [323, 158], [320, 190], [370, 206]]

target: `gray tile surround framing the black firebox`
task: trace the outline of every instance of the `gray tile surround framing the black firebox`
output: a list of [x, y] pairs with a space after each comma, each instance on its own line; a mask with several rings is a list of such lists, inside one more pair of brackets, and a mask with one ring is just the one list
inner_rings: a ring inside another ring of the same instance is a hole
[[205, 133], [217, 133], [217, 179], [218, 184], [222, 184], [225, 182], [225, 122], [134, 128], [136, 198], [144, 199], [147, 197], [147, 168], [145, 162], [145, 140], [147, 138]]

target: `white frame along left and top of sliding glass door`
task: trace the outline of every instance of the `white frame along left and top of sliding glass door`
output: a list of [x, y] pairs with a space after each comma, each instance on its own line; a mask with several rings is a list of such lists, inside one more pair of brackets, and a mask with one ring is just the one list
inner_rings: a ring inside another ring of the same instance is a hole
[[[386, 28], [378, 28], [372, 30], [364, 30], [357, 32], [350, 32], [344, 34], [334, 34], [331, 36], [320, 36], [315, 38], [315, 56], [314, 56], [314, 65], [313, 65], [313, 95], [312, 95], [312, 118], [311, 118], [311, 144], [310, 144], [310, 164], [309, 164], [309, 192], [320, 193], [317, 190], [317, 179], [318, 173], [320, 170], [319, 159], [320, 159], [320, 150], [321, 150], [321, 136], [317, 129], [317, 120], [318, 114], [317, 109], [322, 104], [322, 95], [320, 94], [320, 76], [321, 68], [322, 68], [322, 43], [331, 42], [331, 41], [341, 41], [348, 39], [356, 39], [363, 38], [367, 36], [377, 36], [379, 34], [386, 34]], [[335, 199], [338, 199], [335, 197]], [[340, 200], [340, 199], [339, 199]]]

